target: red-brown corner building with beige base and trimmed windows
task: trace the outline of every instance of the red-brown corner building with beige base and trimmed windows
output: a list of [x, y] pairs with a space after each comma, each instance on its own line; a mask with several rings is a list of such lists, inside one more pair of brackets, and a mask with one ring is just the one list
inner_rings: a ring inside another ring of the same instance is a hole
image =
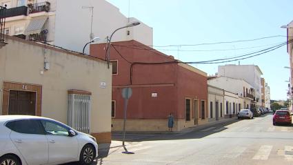
[[[105, 47], [104, 43], [92, 44], [90, 55], [105, 59]], [[127, 86], [132, 88], [128, 131], [168, 130], [170, 113], [173, 130], [208, 122], [205, 72], [133, 40], [112, 43], [109, 59], [113, 66], [112, 130], [123, 130], [121, 91]]]

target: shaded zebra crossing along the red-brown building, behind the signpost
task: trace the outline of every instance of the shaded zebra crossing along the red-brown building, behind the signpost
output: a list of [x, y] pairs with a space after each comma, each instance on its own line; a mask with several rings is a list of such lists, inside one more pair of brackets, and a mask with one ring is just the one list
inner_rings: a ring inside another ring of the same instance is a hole
[[[125, 141], [128, 142], [140, 142], [145, 139], [149, 139], [151, 137], [157, 136], [156, 134], [139, 134], [139, 133], [126, 133], [125, 134]], [[112, 140], [119, 140], [123, 139], [122, 133], [112, 133], [111, 135]]]

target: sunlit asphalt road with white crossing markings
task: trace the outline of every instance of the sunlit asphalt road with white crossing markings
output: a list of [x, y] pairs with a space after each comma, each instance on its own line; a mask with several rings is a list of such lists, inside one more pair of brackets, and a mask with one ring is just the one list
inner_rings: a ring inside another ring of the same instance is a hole
[[97, 164], [293, 164], [293, 127], [273, 126], [272, 115], [233, 120], [190, 133], [110, 148]]

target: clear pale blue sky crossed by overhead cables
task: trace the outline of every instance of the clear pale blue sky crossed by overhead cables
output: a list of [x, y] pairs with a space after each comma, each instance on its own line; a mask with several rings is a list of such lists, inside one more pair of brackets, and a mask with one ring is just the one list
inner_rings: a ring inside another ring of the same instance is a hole
[[[128, 17], [128, 0], [108, 0]], [[154, 46], [212, 43], [287, 35], [280, 26], [293, 20], [292, 0], [130, 0], [130, 17], [153, 28]], [[262, 50], [286, 37], [274, 37], [251, 42], [226, 43], [208, 46], [157, 48], [181, 61], [203, 61], [233, 57]], [[256, 47], [256, 48], [251, 48]], [[180, 51], [177, 51], [177, 50]], [[225, 51], [182, 51], [182, 50]], [[290, 70], [286, 46], [259, 57], [245, 59], [241, 64], [254, 64], [263, 72], [271, 89], [271, 99], [287, 99], [287, 80]], [[198, 64], [196, 68], [213, 75], [218, 65]]]

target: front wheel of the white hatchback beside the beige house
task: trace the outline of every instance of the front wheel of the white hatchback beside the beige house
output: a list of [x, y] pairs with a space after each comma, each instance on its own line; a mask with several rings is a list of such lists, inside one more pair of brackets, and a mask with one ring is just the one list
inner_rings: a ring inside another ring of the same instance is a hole
[[85, 146], [83, 146], [81, 150], [81, 155], [79, 156], [79, 164], [81, 165], [92, 164], [95, 157], [96, 157], [96, 150], [94, 149], [94, 147], [90, 144], [86, 144]]

